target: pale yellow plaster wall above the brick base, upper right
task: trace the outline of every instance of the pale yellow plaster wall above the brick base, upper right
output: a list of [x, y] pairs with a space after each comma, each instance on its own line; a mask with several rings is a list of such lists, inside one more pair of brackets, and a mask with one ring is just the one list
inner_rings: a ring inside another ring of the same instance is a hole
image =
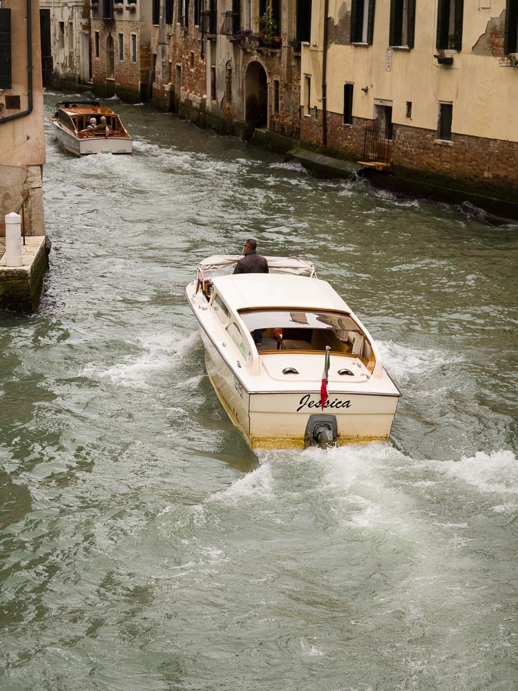
[[[452, 66], [437, 63], [437, 0], [416, 2], [414, 48], [392, 48], [392, 69], [385, 63], [389, 43], [390, 1], [376, 3], [372, 46], [331, 44], [327, 51], [327, 109], [343, 112], [343, 84], [354, 83], [354, 117], [374, 117], [374, 99], [392, 100], [392, 121], [437, 129], [439, 101], [453, 102], [454, 133], [518, 141], [518, 68], [502, 68], [499, 58], [475, 55], [472, 48], [486, 32], [488, 21], [505, 12], [505, 0], [492, 0], [479, 9], [479, 0], [465, 0], [462, 51]], [[329, 17], [338, 23], [343, 2], [329, 1]], [[350, 10], [351, 0], [345, 0]], [[301, 71], [311, 75], [311, 107], [322, 107], [324, 0], [314, 3], [311, 44], [303, 45]], [[367, 94], [361, 91], [369, 87]], [[405, 104], [412, 102], [412, 120]]]

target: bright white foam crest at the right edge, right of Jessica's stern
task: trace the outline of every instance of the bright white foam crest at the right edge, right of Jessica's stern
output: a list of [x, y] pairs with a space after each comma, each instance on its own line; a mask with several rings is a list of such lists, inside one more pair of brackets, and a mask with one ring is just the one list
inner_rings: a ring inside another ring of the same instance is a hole
[[512, 451], [477, 451], [472, 457], [445, 462], [441, 467], [481, 492], [518, 495], [518, 461]]

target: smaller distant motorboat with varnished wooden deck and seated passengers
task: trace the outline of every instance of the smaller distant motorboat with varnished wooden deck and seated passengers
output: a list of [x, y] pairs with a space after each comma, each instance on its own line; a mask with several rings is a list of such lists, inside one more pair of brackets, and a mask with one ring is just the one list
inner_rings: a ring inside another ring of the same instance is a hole
[[133, 138], [120, 117], [99, 101], [60, 101], [48, 120], [59, 142], [75, 155], [133, 151]]

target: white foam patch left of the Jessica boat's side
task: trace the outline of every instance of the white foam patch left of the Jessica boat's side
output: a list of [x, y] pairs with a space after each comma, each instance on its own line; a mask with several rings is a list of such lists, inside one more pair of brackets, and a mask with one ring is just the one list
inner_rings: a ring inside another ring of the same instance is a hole
[[197, 337], [197, 332], [180, 339], [171, 333], [148, 334], [138, 339], [144, 352], [136, 358], [128, 357], [125, 362], [106, 369], [91, 364], [84, 368], [82, 374], [88, 377], [99, 377], [99, 379], [110, 379], [113, 384], [120, 386], [146, 388], [149, 376], [154, 372], [173, 369], [173, 366], [178, 364], [179, 357], [181, 360], [184, 352], [191, 350]]

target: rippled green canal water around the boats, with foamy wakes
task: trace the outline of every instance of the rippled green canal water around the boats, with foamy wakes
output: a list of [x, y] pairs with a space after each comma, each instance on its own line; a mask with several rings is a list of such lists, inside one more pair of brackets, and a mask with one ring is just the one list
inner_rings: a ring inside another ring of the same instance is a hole
[[[517, 689], [518, 227], [115, 107], [131, 157], [47, 129], [41, 309], [0, 315], [0, 689]], [[183, 289], [249, 236], [378, 339], [394, 443], [233, 428]]]

